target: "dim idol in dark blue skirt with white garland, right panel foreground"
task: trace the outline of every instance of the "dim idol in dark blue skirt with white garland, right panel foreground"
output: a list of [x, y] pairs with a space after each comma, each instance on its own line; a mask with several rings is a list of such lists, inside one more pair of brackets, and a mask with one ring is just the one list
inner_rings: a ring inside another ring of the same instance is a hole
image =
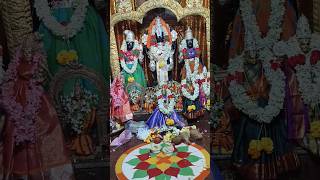
[[[247, 174], [251, 179], [274, 179], [281, 173], [277, 168], [289, 171], [299, 165], [285, 129], [285, 75], [273, 66], [272, 51], [259, 48], [251, 31], [245, 31], [245, 40], [243, 53], [230, 59], [228, 67], [229, 93], [236, 109], [226, 102], [235, 138], [232, 158], [239, 171], [263, 167], [266, 176]], [[287, 166], [289, 162], [294, 163]], [[275, 171], [268, 174], [270, 169]]]

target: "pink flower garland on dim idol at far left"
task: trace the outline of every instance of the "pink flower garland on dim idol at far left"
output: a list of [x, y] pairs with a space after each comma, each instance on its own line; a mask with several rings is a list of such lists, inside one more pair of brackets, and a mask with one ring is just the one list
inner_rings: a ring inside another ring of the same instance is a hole
[[[41, 95], [43, 89], [35, 79], [30, 79], [25, 89], [26, 105], [23, 106], [16, 101], [15, 85], [18, 81], [17, 68], [20, 65], [21, 49], [18, 49], [13, 61], [5, 73], [6, 83], [2, 89], [2, 104], [9, 113], [13, 121], [15, 131], [13, 132], [15, 143], [19, 145], [24, 142], [35, 143], [35, 120], [41, 106]], [[34, 64], [31, 73], [35, 74], [39, 69], [40, 62], [45, 59], [42, 54], [34, 55], [32, 62]]]

